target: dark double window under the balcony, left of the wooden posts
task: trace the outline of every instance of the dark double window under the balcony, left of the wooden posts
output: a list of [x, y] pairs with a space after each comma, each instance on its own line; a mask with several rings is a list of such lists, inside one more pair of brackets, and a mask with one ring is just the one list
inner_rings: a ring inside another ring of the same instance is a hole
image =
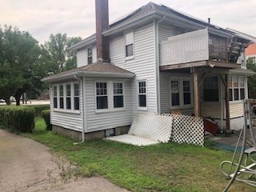
[[182, 78], [170, 80], [170, 107], [185, 107], [191, 104], [191, 81]]

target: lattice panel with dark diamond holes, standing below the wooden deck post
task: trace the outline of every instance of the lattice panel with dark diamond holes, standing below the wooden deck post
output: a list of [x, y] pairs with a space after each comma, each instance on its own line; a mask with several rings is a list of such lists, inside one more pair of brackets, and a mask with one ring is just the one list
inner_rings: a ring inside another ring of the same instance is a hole
[[202, 118], [186, 115], [163, 114], [174, 118], [171, 140], [178, 143], [190, 143], [203, 146], [204, 129]]

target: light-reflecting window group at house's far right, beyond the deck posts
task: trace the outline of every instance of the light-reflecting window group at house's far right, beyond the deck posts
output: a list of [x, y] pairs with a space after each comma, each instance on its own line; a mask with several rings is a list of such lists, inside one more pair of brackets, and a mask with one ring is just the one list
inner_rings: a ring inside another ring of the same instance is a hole
[[244, 77], [230, 76], [229, 88], [230, 101], [239, 101], [245, 98]]

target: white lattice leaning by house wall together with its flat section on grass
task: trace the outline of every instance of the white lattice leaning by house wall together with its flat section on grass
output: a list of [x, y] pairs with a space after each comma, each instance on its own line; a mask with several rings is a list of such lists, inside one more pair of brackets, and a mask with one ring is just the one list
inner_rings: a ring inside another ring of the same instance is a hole
[[169, 142], [172, 125], [172, 117], [158, 114], [137, 114], [128, 134], [106, 139], [134, 146], [148, 146], [158, 142]]

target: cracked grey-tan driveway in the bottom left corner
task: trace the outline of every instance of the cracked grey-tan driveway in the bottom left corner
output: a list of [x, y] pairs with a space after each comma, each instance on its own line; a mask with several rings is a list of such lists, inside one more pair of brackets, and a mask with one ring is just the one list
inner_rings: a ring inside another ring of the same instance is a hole
[[100, 177], [63, 182], [63, 159], [56, 161], [48, 150], [30, 138], [0, 130], [0, 191], [128, 191]]

